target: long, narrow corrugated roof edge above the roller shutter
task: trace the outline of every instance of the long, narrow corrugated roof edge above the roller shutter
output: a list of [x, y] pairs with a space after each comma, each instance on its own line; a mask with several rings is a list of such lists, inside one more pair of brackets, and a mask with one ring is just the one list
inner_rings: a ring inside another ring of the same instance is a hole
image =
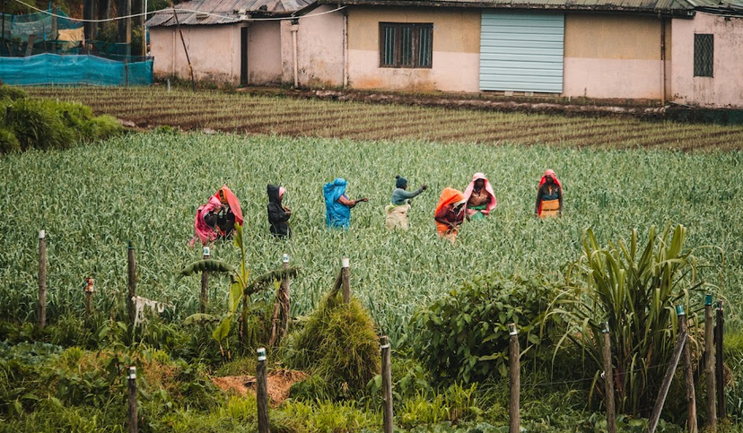
[[[743, 4], [743, 0], [723, 1]], [[473, 7], [692, 15], [697, 5], [717, 4], [720, 0], [317, 0], [317, 2], [318, 4], [342, 5]]]

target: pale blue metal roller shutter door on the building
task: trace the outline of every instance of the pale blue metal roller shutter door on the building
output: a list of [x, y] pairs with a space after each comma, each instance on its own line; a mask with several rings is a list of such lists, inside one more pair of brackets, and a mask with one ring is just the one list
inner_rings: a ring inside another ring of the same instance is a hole
[[564, 35], [563, 13], [484, 11], [480, 90], [562, 93]]

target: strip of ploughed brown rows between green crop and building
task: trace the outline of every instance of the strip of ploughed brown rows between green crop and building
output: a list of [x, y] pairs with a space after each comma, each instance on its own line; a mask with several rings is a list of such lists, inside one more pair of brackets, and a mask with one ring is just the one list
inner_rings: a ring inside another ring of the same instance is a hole
[[148, 88], [29, 88], [31, 95], [90, 105], [137, 126], [353, 140], [423, 140], [599, 149], [743, 149], [743, 126], [634, 118], [562, 117]]

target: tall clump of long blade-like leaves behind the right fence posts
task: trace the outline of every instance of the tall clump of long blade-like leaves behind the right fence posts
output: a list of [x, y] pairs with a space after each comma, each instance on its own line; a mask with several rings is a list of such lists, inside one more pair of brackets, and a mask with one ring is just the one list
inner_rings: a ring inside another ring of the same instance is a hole
[[[653, 226], [647, 244], [636, 229], [629, 242], [600, 247], [591, 229], [583, 237], [583, 254], [570, 267], [566, 287], [549, 316], [564, 316], [569, 326], [561, 344], [581, 347], [596, 368], [602, 367], [601, 323], [608, 322], [619, 411], [648, 415], [677, 337], [675, 306], [689, 307], [696, 259], [684, 249], [686, 228]], [[696, 317], [689, 315], [690, 333]], [[600, 388], [599, 388], [600, 389]], [[603, 391], [601, 391], [603, 393]]]

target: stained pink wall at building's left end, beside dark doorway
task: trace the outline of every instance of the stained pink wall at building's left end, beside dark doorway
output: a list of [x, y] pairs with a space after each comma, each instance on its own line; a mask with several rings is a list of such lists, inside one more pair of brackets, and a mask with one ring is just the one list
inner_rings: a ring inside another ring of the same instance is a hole
[[[182, 26], [183, 40], [197, 80], [240, 82], [240, 28], [235, 25]], [[190, 79], [179, 32], [172, 27], [150, 29], [153, 74]]]

